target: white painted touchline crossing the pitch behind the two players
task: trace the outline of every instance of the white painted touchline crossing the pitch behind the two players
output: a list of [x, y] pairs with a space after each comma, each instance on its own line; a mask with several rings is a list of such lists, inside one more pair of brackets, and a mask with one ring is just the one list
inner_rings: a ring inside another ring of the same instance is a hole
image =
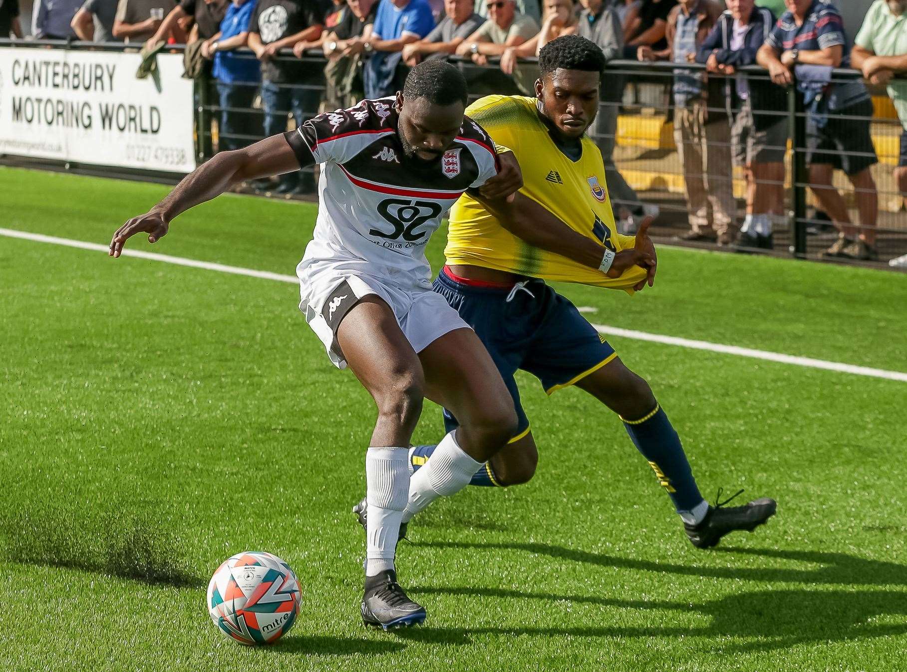
[[[26, 233], [15, 229], [0, 228], [0, 236], [17, 238], [24, 240], [33, 240], [39, 243], [53, 243], [54, 245], [65, 245], [70, 248], [91, 249], [97, 252], [107, 253], [108, 247], [97, 243], [87, 243], [82, 240], [73, 240], [67, 238], [57, 238], [56, 236], [44, 236], [39, 233]], [[176, 264], [178, 266], [188, 266], [190, 268], [202, 268], [204, 270], [216, 270], [221, 273], [232, 273], [239, 276], [249, 276], [250, 278], [264, 278], [266, 280], [278, 280], [278, 282], [297, 283], [295, 276], [284, 276], [279, 273], [270, 273], [264, 270], [254, 270], [252, 268], [241, 268], [238, 266], [227, 266], [225, 264], [213, 264], [209, 261], [198, 261], [184, 257], [171, 257], [165, 254], [152, 254], [151, 252], [141, 252], [134, 249], [124, 249], [124, 257], [135, 257], [141, 259], [151, 259], [152, 261], [162, 261], [167, 264]], [[580, 307], [581, 312], [592, 312], [589, 307]], [[649, 341], [651, 343], [660, 343], [665, 346], [689, 347], [694, 350], [707, 350], [709, 352], [721, 353], [724, 355], [736, 355], [740, 357], [752, 357], [754, 359], [764, 359], [769, 362], [779, 364], [790, 364], [796, 366], [806, 366], [809, 368], [824, 369], [826, 371], [837, 371], [842, 374], [868, 375], [873, 378], [884, 378], [886, 380], [896, 380], [907, 383], [907, 373], [900, 371], [886, 371], [876, 369], [870, 366], [857, 366], [853, 364], [842, 364], [840, 362], [828, 362], [824, 359], [813, 359], [812, 357], [799, 357], [796, 355], [784, 355], [782, 353], [768, 352], [767, 350], [754, 350], [749, 347], [725, 346], [720, 343], [709, 343], [708, 341], [696, 341], [689, 338], [679, 338], [678, 336], [662, 336], [660, 334], [649, 334], [644, 331], [634, 331], [632, 329], [621, 329], [618, 326], [592, 325], [601, 334], [608, 336], [623, 336], [638, 341]]]

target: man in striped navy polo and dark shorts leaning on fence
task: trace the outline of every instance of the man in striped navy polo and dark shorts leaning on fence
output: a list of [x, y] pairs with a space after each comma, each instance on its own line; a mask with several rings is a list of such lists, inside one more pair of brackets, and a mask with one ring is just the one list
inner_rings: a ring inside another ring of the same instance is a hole
[[[810, 189], [841, 232], [822, 256], [877, 259], [874, 244], [879, 204], [870, 168], [878, 160], [869, 132], [873, 102], [862, 82], [831, 81], [831, 68], [850, 65], [844, 21], [837, 9], [818, 0], [787, 0], [787, 7], [793, 11], [778, 20], [756, 61], [782, 86], [793, 83], [791, 70], [796, 68], [797, 86], [804, 93], [808, 112]], [[851, 223], [844, 199], [832, 185], [834, 169], [844, 170], [856, 190], [859, 227]]]

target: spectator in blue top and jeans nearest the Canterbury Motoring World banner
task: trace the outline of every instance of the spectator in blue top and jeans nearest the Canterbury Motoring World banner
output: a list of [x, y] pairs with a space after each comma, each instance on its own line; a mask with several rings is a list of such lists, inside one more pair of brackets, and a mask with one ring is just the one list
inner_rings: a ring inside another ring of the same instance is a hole
[[[257, 0], [232, 0], [220, 21], [220, 31], [201, 45], [201, 54], [214, 59], [214, 79], [220, 102], [220, 150], [239, 150], [257, 139], [252, 102], [261, 81], [258, 61], [234, 50], [249, 43], [249, 22]], [[242, 112], [239, 112], [242, 110]]]

